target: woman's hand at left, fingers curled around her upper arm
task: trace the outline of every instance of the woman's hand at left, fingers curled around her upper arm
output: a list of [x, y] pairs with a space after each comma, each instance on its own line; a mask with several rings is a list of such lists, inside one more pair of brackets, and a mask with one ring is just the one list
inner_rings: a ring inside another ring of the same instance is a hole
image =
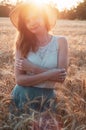
[[20, 59], [16, 59], [15, 67], [19, 70], [32, 72], [34, 65], [29, 60], [25, 58], [20, 58]]

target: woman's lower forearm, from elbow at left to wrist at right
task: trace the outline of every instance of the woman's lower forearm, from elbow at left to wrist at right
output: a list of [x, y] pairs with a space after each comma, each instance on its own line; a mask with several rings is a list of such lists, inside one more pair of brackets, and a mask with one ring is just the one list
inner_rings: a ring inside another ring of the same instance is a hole
[[31, 86], [49, 80], [52, 76], [54, 76], [54, 72], [51, 70], [32, 76], [21, 74], [16, 77], [16, 83], [21, 86]]

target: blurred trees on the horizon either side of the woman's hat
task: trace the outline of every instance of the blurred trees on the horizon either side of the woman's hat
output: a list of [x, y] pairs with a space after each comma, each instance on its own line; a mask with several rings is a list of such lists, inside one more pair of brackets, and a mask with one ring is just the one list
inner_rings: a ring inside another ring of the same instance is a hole
[[[22, 0], [17, 0], [16, 4], [21, 2]], [[0, 2], [0, 17], [8, 17], [12, 8], [14, 8], [14, 5], [10, 3], [10, 0], [2, 0]], [[56, 10], [59, 19], [84, 20], [86, 19], [86, 0], [78, 3], [77, 7], [73, 7], [70, 10], [64, 9], [63, 11], [59, 11], [57, 8]]]

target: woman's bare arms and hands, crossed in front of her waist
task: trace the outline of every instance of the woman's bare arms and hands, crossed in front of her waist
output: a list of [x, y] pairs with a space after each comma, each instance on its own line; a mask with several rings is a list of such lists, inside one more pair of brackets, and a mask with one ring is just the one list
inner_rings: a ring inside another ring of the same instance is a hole
[[[16, 83], [22, 86], [31, 86], [50, 80], [63, 83], [66, 78], [68, 62], [68, 45], [65, 38], [59, 39], [58, 68], [48, 69], [37, 66], [27, 59], [22, 59], [19, 51], [16, 51], [15, 78]], [[26, 72], [33, 72], [30, 76]]]

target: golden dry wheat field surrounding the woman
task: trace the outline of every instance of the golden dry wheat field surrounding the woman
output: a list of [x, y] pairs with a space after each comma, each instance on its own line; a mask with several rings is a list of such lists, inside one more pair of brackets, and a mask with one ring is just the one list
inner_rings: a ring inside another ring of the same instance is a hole
[[[17, 130], [19, 123], [27, 124], [29, 121], [28, 123], [32, 124], [32, 117], [36, 116], [34, 113], [31, 117], [22, 115], [8, 119], [9, 95], [15, 85], [12, 53], [15, 32], [7, 18], [0, 18], [0, 130], [12, 129], [10, 126], [14, 125], [13, 122]], [[69, 43], [68, 76], [64, 85], [57, 84], [57, 114], [64, 122], [64, 130], [86, 130], [86, 21], [58, 20], [52, 32], [66, 36]], [[51, 117], [55, 118], [54, 115]], [[24, 125], [21, 129], [29, 130]]]

